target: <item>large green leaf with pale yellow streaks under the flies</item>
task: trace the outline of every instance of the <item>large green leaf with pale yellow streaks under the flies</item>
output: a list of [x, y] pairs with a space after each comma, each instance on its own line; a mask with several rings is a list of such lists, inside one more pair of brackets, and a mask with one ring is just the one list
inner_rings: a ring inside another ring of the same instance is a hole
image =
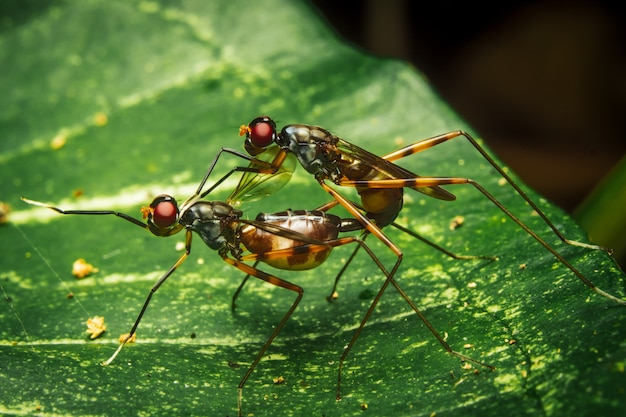
[[[415, 69], [342, 43], [304, 3], [38, 6], [5, 9], [0, 22], [0, 184], [13, 210], [0, 229], [0, 412], [236, 415], [237, 385], [294, 294], [252, 282], [232, 313], [242, 274], [196, 237], [153, 297], [137, 343], [102, 367], [181, 255], [183, 236], [155, 238], [113, 216], [62, 216], [19, 197], [140, 217], [154, 195], [193, 193], [221, 147], [241, 149], [239, 125], [261, 114], [325, 126], [378, 154], [471, 128]], [[561, 243], [463, 140], [400, 163], [477, 180], [600, 288], [624, 297], [624, 274], [606, 254]], [[241, 164], [224, 157], [212, 178]], [[211, 198], [226, 198], [234, 184]], [[590, 291], [475, 189], [447, 188], [457, 201], [407, 192], [400, 221], [453, 252], [499, 260], [453, 260], [390, 229], [404, 252], [397, 280], [454, 349], [496, 371], [464, 369], [391, 289], [347, 358], [336, 402], [343, 347], [383, 282], [361, 254], [328, 303], [351, 250], [338, 248], [316, 270], [262, 268], [305, 295], [245, 385], [244, 415], [624, 414], [624, 307]], [[586, 240], [530, 195], [568, 238]], [[243, 209], [253, 217], [327, 201], [297, 169], [282, 190]], [[457, 215], [465, 222], [450, 230]], [[76, 280], [77, 258], [99, 271]], [[85, 333], [93, 316], [107, 323], [95, 341]], [[285, 382], [274, 384], [279, 376]]]

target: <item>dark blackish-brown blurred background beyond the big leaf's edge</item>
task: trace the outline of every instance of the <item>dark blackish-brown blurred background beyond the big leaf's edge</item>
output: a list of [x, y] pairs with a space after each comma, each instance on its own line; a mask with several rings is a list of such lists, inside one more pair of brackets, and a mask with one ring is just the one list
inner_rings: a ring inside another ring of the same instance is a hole
[[312, 3], [348, 41], [412, 63], [527, 184], [567, 211], [626, 153], [617, 4]]

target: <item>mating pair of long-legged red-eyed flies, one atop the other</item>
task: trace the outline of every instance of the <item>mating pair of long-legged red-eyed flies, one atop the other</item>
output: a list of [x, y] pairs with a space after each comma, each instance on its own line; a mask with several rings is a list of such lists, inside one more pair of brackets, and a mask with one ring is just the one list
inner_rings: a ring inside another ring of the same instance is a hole
[[[455, 184], [470, 184], [474, 186], [526, 233], [551, 252], [563, 265], [583, 281], [585, 285], [604, 297], [620, 304], [626, 304], [624, 300], [597, 288], [589, 279], [563, 258], [562, 255], [535, 232], [530, 230], [521, 220], [475, 181], [454, 177], [419, 177], [393, 163], [393, 161], [397, 159], [432, 148], [448, 140], [465, 137], [474, 148], [478, 150], [483, 158], [485, 158], [517, 193], [526, 200], [539, 216], [543, 218], [546, 224], [552, 228], [554, 233], [562, 241], [590, 249], [606, 250], [596, 245], [566, 239], [535, 203], [532, 202], [497, 163], [487, 155], [480, 145], [464, 132], [455, 131], [416, 142], [382, 157], [369, 153], [332, 135], [327, 130], [316, 126], [287, 125], [278, 132], [276, 130], [276, 124], [268, 117], [254, 119], [250, 124], [241, 128], [241, 133], [246, 135], [245, 149], [249, 155], [232, 149], [222, 149], [210, 164], [206, 175], [194, 195], [180, 205], [170, 196], [163, 195], [156, 197], [150, 206], [143, 210], [144, 218], [147, 218], [146, 223], [127, 214], [112, 210], [62, 210], [48, 204], [24, 199], [27, 203], [46, 207], [61, 214], [115, 215], [149, 230], [156, 236], [170, 236], [183, 229], [186, 231], [185, 252], [152, 286], [129, 335], [104, 364], [111, 363], [128, 339], [136, 332], [137, 326], [153, 294], [188, 257], [191, 251], [192, 234], [196, 232], [210, 248], [218, 251], [218, 254], [225, 262], [247, 274], [233, 296], [233, 308], [235, 306], [235, 298], [239, 295], [241, 288], [249, 276], [254, 276], [262, 281], [296, 293], [296, 298], [291, 307], [274, 328], [261, 348], [261, 351], [257, 354], [239, 383], [239, 415], [242, 414], [243, 387], [246, 381], [297, 307], [303, 294], [303, 289], [300, 286], [261, 271], [257, 268], [257, 263], [261, 261], [278, 269], [285, 270], [311, 269], [321, 265], [330, 254], [332, 248], [349, 243], [356, 243], [357, 246], [352, 256], [348, 259], [348, 262], [344, 265], [344, 268], [335, 278], [333, 292], [337, 286], [339, 277], [346, 270], [349, 262], [354, 258], [359, 248], [363, 248], [376, 263], [379, 270], [385, 276], [385, 281], [381, 285], [379, 292], [373, 299], [359, 327], [341, 356], [337, 381], [337, 399], [340, 399], [341, 395], [341, 376], [344, 361], [389, 284], [396, 288], [448, 353], [462, 360], [471, 361], [493, 369], [490, 365], [454, 351], [423, 316], [395, 280], [395, 274], [402, 261], [402, 251], [382, 232], [381, 229], [388, 225], [397, 227], [401, 231], [423, 240], [434, 248], [455, 258], [488, 258], [455, 255], [396, 224], [394, 220], [403, 205], [404, 188], [412, 188], [428, 196], [442, 200], [454, 200], [455, 196], [441, 188], [441, 186]], [[205, 183], [223, 152], [244, 158], [249, 164], [245, 167], [232, 168], [211, 187], [203, 191]], [[236, 206], [240, 202], [270, 195], [282, 187], [291, 177], [291, 172], [295, 167], [294, 158], [297, 158], [300, 164], [315, 177], [320, 186], [333, 197], [333, 201], [320, 207], [318, 210], [295, 210], [273, 215], [259, 215], [254, 221], [243, 219], [241, 211], [239, 211]], [[211, 191], [235, 172], [243, 172], [244, 174], [239, 185], [226, 202], [203, 200], [203, 198], [209, 195]], [[331, 187], [329, 183], [339, 187], [355, 187], [359, 194], [360, 202], [355, 203], [350, 201], [340, 192], [336, 191], [335, 188]], [[338, 204], [341, 204], [347, 209], [353, 218], [341, 219], [326, 213], [326, 211]], [[344, 232], [358, 230], [365, 231], [362, 238], [352, 235], [339, 236]], [[396, 255], [396, 261], [391, 269], [388, 270], [385, 268], [378, 257], [365, 244], [364, 240], [368, 234], [373, 234]], [[255, 263], [248, 265], [244, 263], [246, 261], [254, 261]]]

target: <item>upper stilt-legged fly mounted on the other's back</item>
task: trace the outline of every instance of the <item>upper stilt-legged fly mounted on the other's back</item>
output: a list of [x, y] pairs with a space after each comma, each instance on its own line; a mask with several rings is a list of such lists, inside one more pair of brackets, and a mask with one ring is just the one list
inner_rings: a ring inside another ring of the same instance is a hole
[[[537, 215], [543, 219], [546, 225], [552, 229], [553, 233], [556, 234], [561, 241], [569, 245], [593, 250], [603, 250], [609, 255], [612, 253], [610, 249], [598, 245], [567, 239], [537, 204], [535, 204], [496, 161], [489, 156], [482, 146], [466, 132], [456, 130], [434, 136], [415, 142], [384, 156], [372, 154], [319, 126], [289, 124], [278, 131], [276, 123], [268, 116], [257, 117], [248, 125], [241, 126], [239, 133], [242, 136], [246, 136], [244, 148], [249, 155], [258, 158], [259, 155], [263, 155], [264, 152], [268, 151], [271, 152], [272, 155], [275, 155], [273, 160], [269, 158], [264, 159], [264, 162], [269, 163], [271, 166], [269, 171], [278, 171], [286, 155], [295, 155], [300, 165], [314, 176], [320, 186], [328, 192], [338, 204], [341, 204], [358, 220], [360, 226], [365, 229], [365, 233], [371, 233], [376, 236], [396, 255], [396, 263], [391, 269], [392, 277], [395, 275], [402, 261], [402, 251], [381, 229], [385, 226], [392, 225], [400, 228], [403, 232], [408, 232], [412, 236], [423, 240], [415, 233], [410, 232], [406, 228], [399, 227], [394, 223], [395, 218], [398, 216], [403, 206], [404, 188], [411, 188], [439, 200], [451, 201], [455, 200], [456, 197], [442, 188], [442, 186], [466, 184], [477, 189], [485, 198], [493, 203], [497, 209], [513, 220], [522, 230], [556, 257], [562, 265], [568, 268], [587, 287], [603, 297], [616, 303], [626, 305], [625, 300], [609, 294], [593, 284], [582, 272], [565, 259], [561, 253], [548, 244], [536, 232], [531, 230], [522, 220], [476, 181], [470, 178], [460, 177], [420, 177], [393, 163], [393, 161], [431, 149], [452, 139], [464, 138], [515, 192], [533, 208]], [[270, 140], [272, 143], [269, 143]], [[252, 168], [252, 164], [249, 167]], [[264, 169], [262, 171], [259, 170], [259, 172], [267, 174], [268, 169], [264, 167]], [[360, 204], [351, 202], [329, 184], [334, 184], [339, 187], [356, 188], [360, 196]], [[450, 256], [456, 257], [456, 255], [437, 245], [427, 243]], [[358, 248], [355, 250], [358, 250]], [[352, 257], [349, 258], [349, 260], [351, 259]], [[337, 279], [339, 279], [339, 277], [337, 277]], [[380, 292], [385, 290], [386, 284], [383, 285]]]

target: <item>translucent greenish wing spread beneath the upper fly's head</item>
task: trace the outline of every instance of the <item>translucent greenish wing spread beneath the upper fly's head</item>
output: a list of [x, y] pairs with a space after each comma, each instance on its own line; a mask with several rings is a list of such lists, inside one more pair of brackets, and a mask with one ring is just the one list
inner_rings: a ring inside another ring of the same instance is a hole
[[[277, 145], [268, 147], [263, 153], [255, 158], [268, 165], [276, 158], [280, 148]], [[248, 165], [249, 168], [267, 169], [268, 165], [260, 164], [254, 160]], [[297, 159], [291, 153], [287, 154], [285, 160], [280, 164], [278, 170], [273, 174], [262, 174], [257, 172], [244, 172], [241, 180], [235, 187], [230, 197], [226, 200], [229, 204], [237, 207], [242, 202], [251, 202], [265, 198], [280, 190], [289, 180], [296, 169]]]

